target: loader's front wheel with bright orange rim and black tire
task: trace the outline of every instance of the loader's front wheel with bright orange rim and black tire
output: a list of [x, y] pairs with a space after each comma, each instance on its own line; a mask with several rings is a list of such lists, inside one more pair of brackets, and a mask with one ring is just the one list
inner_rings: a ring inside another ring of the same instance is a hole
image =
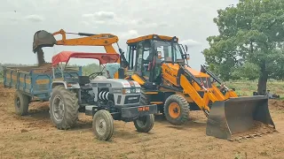
[[[170, 112], [174, 110], [179, 113]], [[164, 104], [164, 116], [172, 125], [183, 125], [188, 119], [188, 112], [188, 103], [182, 95], [170, 95]]]

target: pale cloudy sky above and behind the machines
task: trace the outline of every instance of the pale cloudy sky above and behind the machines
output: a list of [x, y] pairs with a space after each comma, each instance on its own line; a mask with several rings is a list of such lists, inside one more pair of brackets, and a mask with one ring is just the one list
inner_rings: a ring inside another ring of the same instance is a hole
[[[238, 0], [2, 0], [0, 5], [0, 63], [36, 64], [32, 51], [36, 31], [115, 34], [126, 51], [127, 39], [146, 34], [177, 36], [189, 46], [189, 64], [200, 70], [206, 38], [217, 35], [213, 19], [218, 9]], [[68, 35], [67, 38], [77, 36]], [[60, 36], [56, 36], [59, 40]], [[116, 44], [114, 48], [118, 51]], [[105, 52], [99, 46], [55, 46], [43, 49], [45, 61], [63, 50]], [[71, 59], [71, 64], [91, 64], [90, 59]]]

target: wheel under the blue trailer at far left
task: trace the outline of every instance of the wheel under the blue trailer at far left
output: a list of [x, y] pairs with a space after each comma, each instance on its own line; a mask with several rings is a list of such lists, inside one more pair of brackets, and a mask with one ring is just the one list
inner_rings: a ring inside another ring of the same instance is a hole
[[25, 116], [28, 114], [28, 95], [24, 95], [17, 90], [14, 94], [14, 106], [16, 114], [19, 116]]

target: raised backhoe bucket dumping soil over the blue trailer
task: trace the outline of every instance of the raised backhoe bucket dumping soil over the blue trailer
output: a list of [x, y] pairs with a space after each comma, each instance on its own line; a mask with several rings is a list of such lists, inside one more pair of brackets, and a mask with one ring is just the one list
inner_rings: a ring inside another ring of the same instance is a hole
[[39, 30], [34, 35], [33, 51], [36, 51], [43, 47], [53, 47], [56, 44], [56, 39], [53, 34], [46, 32], [45, 30]]

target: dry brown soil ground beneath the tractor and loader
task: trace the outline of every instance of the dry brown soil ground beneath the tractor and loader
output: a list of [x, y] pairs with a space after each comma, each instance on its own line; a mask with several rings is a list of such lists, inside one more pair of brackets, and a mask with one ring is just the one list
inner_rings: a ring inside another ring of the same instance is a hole
[[[183, 126], [156, 116], [150, 133], [137, 133], [133, 123], [114, 122], [111, 141], [91, 132], [91, 117], [80, 114], [74, 129], [59, 131], [52, 124], [47, 102], [34, 102], [29, 115], [14, 114], [13, 91], [0, 87], [0, 158], [284, 158], [284, 102], [270, 101], [279, 133], [228, 141], [207, 136], [206, 117], [190, 112]], [[247, 157], [246, 157], [247, 156]]]

